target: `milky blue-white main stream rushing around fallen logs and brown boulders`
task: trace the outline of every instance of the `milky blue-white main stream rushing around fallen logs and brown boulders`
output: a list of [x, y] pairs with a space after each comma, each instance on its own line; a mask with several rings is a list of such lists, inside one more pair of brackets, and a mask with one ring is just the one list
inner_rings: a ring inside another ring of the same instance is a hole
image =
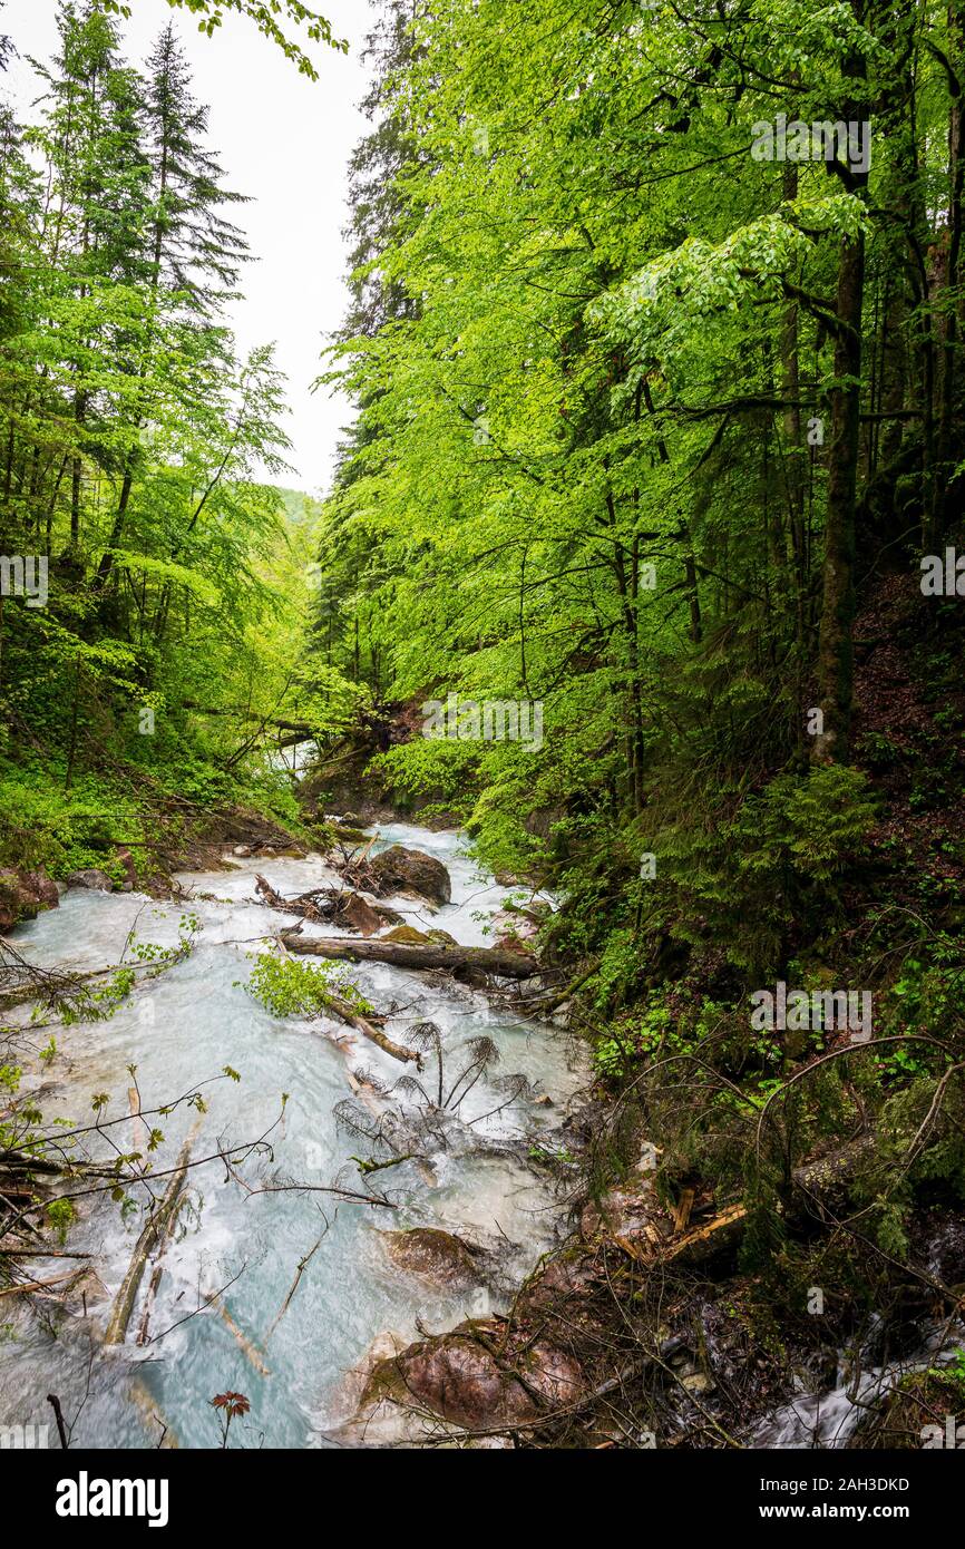
[[[379, 843], [434, 853], [452, 877], [452, 903], [438, 912], [412, 900], [389, 900], [409, 923], [443, 928], [463, 943], [486, 943], [486, 920], [503, 903], [507, 889], [480, 877], [460, 853], [458, 835], [393, 824], [379, 830]], [[150, 1120], [164, 1131], [156, 1169], [172, 1165], [195, 1126], [194, 1157], [211, 1156], [225, 1143], [254, 1140], [273, 1126], [282, 1094], [290, 1094], [283, 1120], [271, 1131], [271, 1157], [257, 1165], [249, 1160], [242, 1169], [245, 1179], [256, 1188], [297, 1180], [322, 1190], [338, 1177], [344, 1187], [359, 1190], [364, 1185], [350, 1159], [372, 1154], [372, 1145], [341, 1129], [333, 1109], [350, 1097], [350, 1070], [370, 1072], [389, 1086], [403, 1066], [341, 1024], [273, 1018], [252, 999], [245, 988], [249, 954], [268, 950], [271, 943], [263, 939], [293, 923], [254, 902], [256, 871], [288, 897], [335, 881], [319, 857], [239, 861], [231, 871], [183, 877], [201, 926], [191, 956], [143, 984], [112, 1021], [54, 1029], [59, 1053], [53, 1067], [42, 1075], [28, 1070], [28, 1080], [42, 1083], [45, 1120], [62, 1115], [90, 1123], [93, 1094], [108, 1094], [107, 1118], [127, 1112], [130, 1064], [136, 1064], [144, 1109], [170, 1103], [231, 1066], [240, 1072], [240, 1083], [220, 1080], [206, 1087], [204, 1115], [180, 1108]], [[15, 945], [28, 960], [48, 968], [98, 968], [119, 960], [135, 922], [141, 942], [170, 946], [184, 912], [184, 905], [158, 905], [138, 894], [71, 891], [59, 909], [20, 928]], [[311, 925], [305, 931], [338, 934]], [[553, 1108], [517, 1100], [474, 1131], [462, 1131], [463, 1137], [531, 1137], [559, 1121], [561, 1103], [581, 1080], [579, 1058], [564, 1033], [421, 974], [384, 965], [342, 967], [376, 1008], [398, 1007], [386, 1027], [389, 1036], [404, 1042], [407, 1029], [424, 1019], [440, 1027], [451, 1080], [466, 1064], [462, 1046], [485, 1033], [500, 1050], [500, 1073], [520, 1072], [553, 1098]], [[37, 1046], [46, 1036], [37, 1035]], [[424, 1080], [432, 1090], [432, 1058]], [[393, 1101], [412, 1111], [418, 1106], [415, 1094]], [[482, 1080], [460, 1117], [485, 1115], [503, 1101], [505, 1092]], [[112, 1134], [121, 1149], [135, 1148], [130, 1123]], [[90, 1149], [112, 1154], [104, 1137], [96, 1137]], [[57, 1393], [74, 1422], [73, 1445], [156, 1445], [161, 1422], [170, 1441], [209, 1447], [218, 1444], [209, 1400], [234, 1389], [251, 1400], [245, 1428], [235, 1422], [239, 1444], [257, 1445], [263, 1437], [268, 1447], [327, 1445], [327, 1430], [344, 1417], [345, 1372], [375, 1337], [393, 1331], [407, 1340], [418, 1337], [417, 1320], [438, 1331], [485, 1310], [486, 1293], [437, 1289], [398, 1270], [379, 1228], [438, 1225], [485, 1244], [508, 1239], [514, 1245], [507, 1248], [511, 1267], [519, 1270], [536, 1261], [558, 1221], [548, 1185], [525, 1159], [472, 1154], [462, 1145], [437, 1151], [429, 1166], [407, 1162], [373, 1174], [373, 1191], [389, 1190], [400, 1207], [395, 1211], [304, 1190], [246, 1193], [218, 1162], [192, 1171], [191, 1180], [191, 1208], [181, 1213], [163, 1261], [152, 1343], [135, 1343], [149, 1269], [127, 1341], [102, 1345], [110, 1301], [143, 1225], [141, 1211], [124, 1219], [118, 1205], [104, 1197], [84, 1207], [68, 1244], [74, 1252], [96, 1255], [102, 1289], [96, 1283], [88, 1289], [88, 1315], [74, 1301], [65, 1314], [51, 1314], [53, 1321], [23, 1306], [14, 1312], [19, 1298], [0, 1303], [0, 1424], [48, 1422], [45, 1396]], [[276, 1324], [299, 1262], [319, 1238]], [[33, 1266], [37, 1273], [64, 1267], [64, 1261]], [[222, 1287], [222, 1301], [204, 1309], [204, 1298]], [[239, 1335], [260, 1352], [256, 1362]], [[259, 1363], [268, 1372], [259, 1371]]]

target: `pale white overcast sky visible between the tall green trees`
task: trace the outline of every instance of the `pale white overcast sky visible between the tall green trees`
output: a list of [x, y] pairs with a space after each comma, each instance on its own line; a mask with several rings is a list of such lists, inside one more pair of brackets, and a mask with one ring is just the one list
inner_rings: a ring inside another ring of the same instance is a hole
[[[133, 15], [122, 23], [125, 57], [143, 64], [156, 34], [173, 20], [194, 70], [194, 94], [211, 107], [209, 144], [225, 181], [254, 200], [231, 214], [259, 260], [242, 273], [245, 301], [235, 304], [232, 324], [242, 350], [277, 341], [296, 468], [285, 482], [318, 493], [328, 486], [341, 429], [352, 418], [344, 398], [325, 389], [311, 393], [310, 384], [321, 369], [322, 336], [339, 327], [349, 305], [347, 163], [367, 130], [358, 110], [367, 85], [359, 54], [372, 0], [318, 0], [313, 6], [350, 43], [349, 54], [307, 46], [319, 70], [316, 82], [300, 76], [246, 17], [228, 15], [214, 37], [204, 37], [187, 12], [172, 11], [166, 0], [130, 3]], [[5, 0], [0, 33], [12, 37], [22, 56], [48, 59], [57, 40], [56, 14], [56, 0]], [[26, 59], [11, 60], [0, 90], [26, 118], [39, 94]]]

